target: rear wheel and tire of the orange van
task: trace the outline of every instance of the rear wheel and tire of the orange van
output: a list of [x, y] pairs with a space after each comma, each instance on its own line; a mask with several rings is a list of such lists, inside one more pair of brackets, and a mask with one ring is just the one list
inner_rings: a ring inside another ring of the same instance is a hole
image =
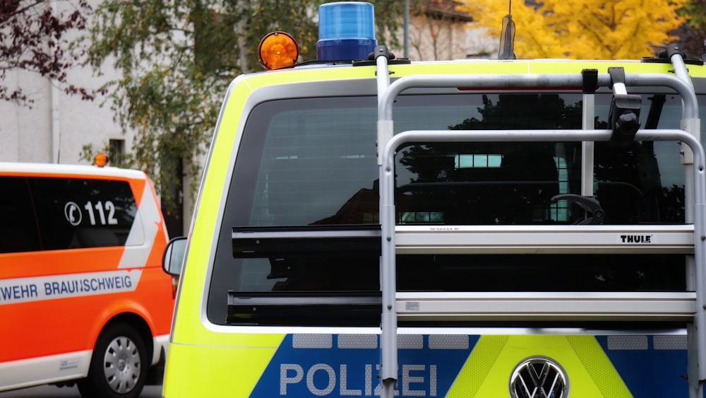
[[83, 398], [138, 398], [148, 368], [142, 336], [128, 324], [110, 324], [98, 336], [78, 391]]

